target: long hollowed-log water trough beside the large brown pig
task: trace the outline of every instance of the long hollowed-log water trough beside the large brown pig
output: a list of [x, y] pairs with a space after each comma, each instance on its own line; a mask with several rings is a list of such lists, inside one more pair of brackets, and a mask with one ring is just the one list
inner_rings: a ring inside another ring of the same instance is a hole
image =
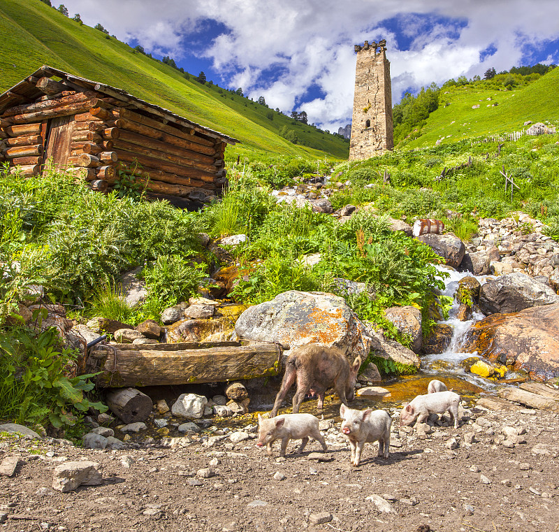
[[[187, 344], [158, 344], [148, 349], [133, 345], [100, 346], [89, 356], [102, 372], [97, 385], [150, 386], [223, 382], [276, 375], [281, 352], [275, 344], [252, 344], [206, 349]], [[159, 350], [157, 350], [159, 347]]]

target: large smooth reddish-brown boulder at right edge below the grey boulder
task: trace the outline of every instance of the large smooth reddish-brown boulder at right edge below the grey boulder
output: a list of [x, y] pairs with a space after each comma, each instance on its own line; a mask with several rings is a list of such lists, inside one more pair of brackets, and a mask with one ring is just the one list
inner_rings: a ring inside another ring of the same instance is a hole
[[534, 380], [559, 377], [559, 303], [488, 316], [467, 333], [463, 350], [528, 371]]

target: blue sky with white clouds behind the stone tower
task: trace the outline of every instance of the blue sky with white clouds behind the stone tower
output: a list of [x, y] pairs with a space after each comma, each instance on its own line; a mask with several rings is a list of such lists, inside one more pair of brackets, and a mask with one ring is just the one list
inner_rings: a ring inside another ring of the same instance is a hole
[[[53, 4], [57, 2], [53, 0]], [[337, 131], [354, 44], [386, 38], [393, 103], [435, 81], [559, 63], [557, 0], [66, 0], [70, 15], [185, 71]]]

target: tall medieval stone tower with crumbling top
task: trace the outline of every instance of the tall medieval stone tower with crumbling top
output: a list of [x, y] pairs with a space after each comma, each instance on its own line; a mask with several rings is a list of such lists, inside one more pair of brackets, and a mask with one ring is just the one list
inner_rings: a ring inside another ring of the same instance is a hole
[[394, 147], [390, 62], [386, 41], [355, 45], [354, 112], [349, 160], [368, 159]]

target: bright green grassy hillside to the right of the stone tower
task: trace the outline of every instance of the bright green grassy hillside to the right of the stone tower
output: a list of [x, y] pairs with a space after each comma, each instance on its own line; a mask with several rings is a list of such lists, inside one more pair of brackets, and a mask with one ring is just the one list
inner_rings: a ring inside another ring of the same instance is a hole
[[[421, 137], [408, 143], [406, 148], [433, 146], [438, 138], [448, 135], [451, 137], [445, 138], [444, 143], [472, 136], [520, 131], [527, 120], [558, 122], [557, 87], [559, 69], [553, 69], [530, 85], [512, 91], [470, 85], [442, 89], [439, 108], [430, 114]], [[445, 107], [447, 102], [450, 105]], [[499, 105], [493, 107], [493, 103]], [[478, 104], [479, 108], [472, 109]]]

